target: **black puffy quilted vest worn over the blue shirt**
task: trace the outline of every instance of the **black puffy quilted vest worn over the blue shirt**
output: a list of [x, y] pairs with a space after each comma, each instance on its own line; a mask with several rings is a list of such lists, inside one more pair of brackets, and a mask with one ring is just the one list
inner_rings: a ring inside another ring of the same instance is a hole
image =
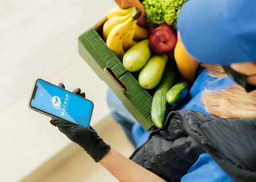
[[207, 152], [237, 182], [256, 182], [256, 118], [222, 119], [172, 111], [130, 159], [170, 182], [179, 182]]

